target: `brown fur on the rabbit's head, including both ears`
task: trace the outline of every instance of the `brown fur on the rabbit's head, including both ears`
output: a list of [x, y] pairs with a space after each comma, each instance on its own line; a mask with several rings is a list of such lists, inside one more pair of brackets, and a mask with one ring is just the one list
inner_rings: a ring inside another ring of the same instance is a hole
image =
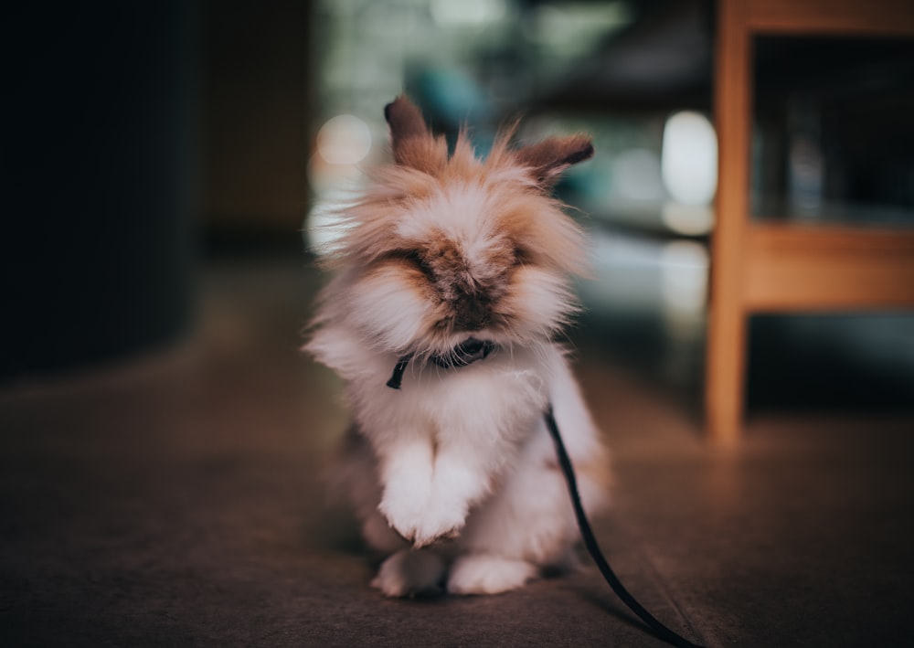
[[[362, 199], [345, 210], [345, 237], [330, 263], [361, 269], [366, 277], [396, 272], [403, 287], [426, 304], [425, 330], [442, 345], [456, 332], [511, 333], [518, 318], [530, 313], [521, 302], [531, 294], [524, 282], [532, 275], [522, 268], [555, 277], [538, 290], [552, 292], [559, 308], [550, 317], [555, 326], [564, 324], [574, 310], [564, 277], [583, 273], [587, 255], [579, 226], [547, 188], [553, 175], [592, 153], [590, 141], [550, 138], [515, 150], [509, 129], [481, 160], [466, 133], [449, 156], [443, 138], [429, 132], [405, 98], [391, 103], [386, 116], [397, 164], [374, 172]], [[482, 211], [461, 214], [454, 206], [466, 197], [468, 206]], [[460, 223], [449, 218], [473, 218], [479, 230], [469, 230], [469, 240], [463, 240], [455, 234]], [[464, 244], [473, 249], [463, 250]], [[551, 325], [539, 322], [537, 330], [547, 334]]]

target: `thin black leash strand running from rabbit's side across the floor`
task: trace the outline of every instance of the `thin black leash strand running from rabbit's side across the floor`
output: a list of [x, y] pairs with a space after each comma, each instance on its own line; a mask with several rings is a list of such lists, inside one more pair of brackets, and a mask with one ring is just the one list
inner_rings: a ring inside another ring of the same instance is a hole
[[645, 610], [643, 605], [635, 600], [629, 591], [625, 589], [622, 585], [622, 581], [619, 580], [615, 575], [615, 572], [610, 568], [610, 564], [606, 561], [606, 558], [603, 558], [603, 553], [600, 551], [600, 546], [597, 544], [597, 538], [593, 535], [593, 530], [590, 528], [590, 522], [587, 519], [587, 515], [584, 514], [584, 506], [580, 503], [578, 480], [575, 478], [574, 469], [571, 467], [571, 460], [569, 459], [568, 452], [565, 451], [565, 444], [562, 442], [561, 435], [558, 433], [558, 424], [552, 413], [551, 404], [543, 414], [543, 417], [546, 419], [546, 427], [549, 429], [549, 434], [552, 435], [552, 441], [556, 444], [558, 463], [561, 465], [562, 472], [565, 473], [565, 480], [569, 484], [571, 504], [574, 506], [574, 515], [578, 518], [578, 526], [580, 528], [580, 535], [584, 538], [584, 546], [587, 547], [587, 550], [590, 552], [590, 557], [593, 558], [593, 561], [597, 563], [597, 567], [600, 568], [600, 573], [603, 575], [603, 578], [610, 584], [610, 587], [612, 588], [612, 591], [616, 593], [616, 596], [622, 599], [622, 602], [624, 602], [631, 611], [637, 614], [639, 619], [647, 623], [657, 637], [663, 639], [666, 643], [681, 646], [682, 648], [701, 648], [698, 644], [688, 641], [667, 628], [663, 623], [657, 621], [653, 614]]

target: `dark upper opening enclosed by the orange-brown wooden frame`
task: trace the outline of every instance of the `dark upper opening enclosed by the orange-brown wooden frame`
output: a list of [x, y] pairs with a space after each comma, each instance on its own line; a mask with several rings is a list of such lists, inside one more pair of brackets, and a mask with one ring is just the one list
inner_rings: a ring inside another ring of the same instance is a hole
[[758, 37], [760, 217], [914, 226], [914, 39]]

